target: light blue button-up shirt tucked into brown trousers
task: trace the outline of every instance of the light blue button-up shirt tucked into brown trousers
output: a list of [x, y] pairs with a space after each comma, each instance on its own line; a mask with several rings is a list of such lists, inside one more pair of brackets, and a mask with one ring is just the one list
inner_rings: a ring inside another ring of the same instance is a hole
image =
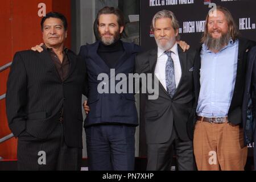
[[208, 118], [228, 115], [237, 76], [238, 44], [238, 40], [230, 40], [217, 53], [203, 44], [197, 115]]

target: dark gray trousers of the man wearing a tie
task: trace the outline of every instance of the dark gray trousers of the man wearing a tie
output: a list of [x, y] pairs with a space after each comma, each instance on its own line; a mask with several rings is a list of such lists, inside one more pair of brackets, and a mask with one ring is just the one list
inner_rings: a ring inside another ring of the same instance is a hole
[[178, 170], [194, 171], [193, 142], [180, 140], [175, 129], [168, 142], [147, 144], [147, 171], [170, 171], [174, 150]]

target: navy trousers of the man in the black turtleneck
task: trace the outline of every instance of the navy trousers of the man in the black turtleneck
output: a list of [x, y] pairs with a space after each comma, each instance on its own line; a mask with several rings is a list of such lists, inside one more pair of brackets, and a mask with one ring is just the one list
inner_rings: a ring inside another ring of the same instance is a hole
[[134, 126], [90, 126], [85, 133], [90, 171], [134, 170]]

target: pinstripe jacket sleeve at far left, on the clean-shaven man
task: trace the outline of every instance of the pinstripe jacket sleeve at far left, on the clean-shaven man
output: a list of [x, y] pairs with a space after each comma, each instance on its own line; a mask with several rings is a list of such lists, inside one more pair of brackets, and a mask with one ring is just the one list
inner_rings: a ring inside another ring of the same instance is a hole
[[22, 57], [14, 56], [6, 92], [6, 114], [10, 130], [15, 137], [26, 130], [27, 76]]

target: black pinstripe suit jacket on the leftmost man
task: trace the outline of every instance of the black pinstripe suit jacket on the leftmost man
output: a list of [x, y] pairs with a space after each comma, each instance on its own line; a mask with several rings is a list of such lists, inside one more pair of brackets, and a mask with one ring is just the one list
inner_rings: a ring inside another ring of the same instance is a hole
[[68, 51], [69, 75], [61, 81], [48, 52], [17, 52], [7, 81], [6, 113], [15, 137], [23, 131], [46, 139], [64, 107], [65, 142], [82, 147], [81, 96], [86, 90], [84, 61]]

